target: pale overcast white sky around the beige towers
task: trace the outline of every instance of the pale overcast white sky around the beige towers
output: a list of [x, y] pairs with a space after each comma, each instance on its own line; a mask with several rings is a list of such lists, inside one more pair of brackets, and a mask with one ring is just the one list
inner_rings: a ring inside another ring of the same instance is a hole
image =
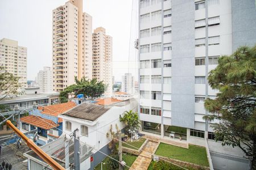
[[[52, 10], [68, 0], [0, 1], [0, 39], [27, 47], [27, 79], [34, 80], [44, 66], [52, 66]], [[113, 37], [113, 75], [137, 75], [138, 0], [84, 0], [83, 11], [93, 18], [93, 29], [104, 27]], [[129, 61], [129, 62], [128, 62]]]

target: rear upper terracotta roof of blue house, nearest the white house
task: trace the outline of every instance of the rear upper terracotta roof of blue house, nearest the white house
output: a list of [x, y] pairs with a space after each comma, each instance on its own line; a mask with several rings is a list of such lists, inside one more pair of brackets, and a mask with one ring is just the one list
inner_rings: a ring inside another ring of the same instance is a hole
[[69, 109], [75, 106], [76, 104], [73, 101], [71, 101], [68, 103], [53, 104], [53, 105], [48, 105], [46, 107], [38, 107], [38, 109], [42, 110], [41, 113], [43, 114], [58, 116], [59, 114], [64, 113], [65, 111], [68, 111]]

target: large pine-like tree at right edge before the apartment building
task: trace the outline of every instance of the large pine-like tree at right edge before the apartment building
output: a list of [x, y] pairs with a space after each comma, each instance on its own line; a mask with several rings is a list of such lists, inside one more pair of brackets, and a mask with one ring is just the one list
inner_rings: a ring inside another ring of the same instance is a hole
[[208, 80], [219, 91], [216, 99], [204, 103], [213, 113], [205, 118], [220, 121], [213, 124], [216, 141], [240, 147], [256, 169], [256, 45], [220, 57]]

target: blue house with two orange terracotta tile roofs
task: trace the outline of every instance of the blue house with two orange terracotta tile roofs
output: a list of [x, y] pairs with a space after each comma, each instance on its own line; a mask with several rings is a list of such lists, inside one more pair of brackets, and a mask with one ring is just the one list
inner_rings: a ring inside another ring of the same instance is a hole
[[39, 139], [36, 141], [38, 145], [51, 142], [62, 134], [63, 120], [58, 118], [59, 114], [69, 111], [75, 106], [76, 104], [71, 101], [33, 109], [29, 116], [20, 118], [21, 130], [24, 133], [38, 129]]

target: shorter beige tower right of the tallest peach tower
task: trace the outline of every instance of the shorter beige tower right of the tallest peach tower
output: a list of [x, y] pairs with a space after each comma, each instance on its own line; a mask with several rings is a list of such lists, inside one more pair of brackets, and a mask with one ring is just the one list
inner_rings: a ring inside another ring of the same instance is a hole
[[112, 37], [102, 27], [92, 34], [92, 78], [104, 81], [105, 96], [112, 96]]

